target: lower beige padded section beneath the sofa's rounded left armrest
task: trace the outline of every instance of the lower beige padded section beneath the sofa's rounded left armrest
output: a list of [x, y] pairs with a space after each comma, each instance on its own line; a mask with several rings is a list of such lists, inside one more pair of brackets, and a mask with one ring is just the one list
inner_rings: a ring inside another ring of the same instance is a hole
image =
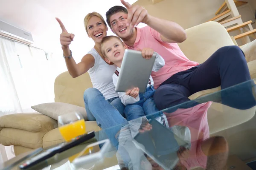
[[0, 131], [0, 142], [4, 146], [18, 145], [36, 149], [42, 147], [43, 136], [44, 133], [6, 127]]

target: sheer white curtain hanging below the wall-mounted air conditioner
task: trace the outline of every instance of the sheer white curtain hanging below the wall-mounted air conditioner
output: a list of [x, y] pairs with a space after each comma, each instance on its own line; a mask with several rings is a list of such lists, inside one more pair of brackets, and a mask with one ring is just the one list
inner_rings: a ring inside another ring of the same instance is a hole
[[61, 72], [54, 65], [43, 50], [0, 38], [0, 116], [54, 102], [54, 80]]

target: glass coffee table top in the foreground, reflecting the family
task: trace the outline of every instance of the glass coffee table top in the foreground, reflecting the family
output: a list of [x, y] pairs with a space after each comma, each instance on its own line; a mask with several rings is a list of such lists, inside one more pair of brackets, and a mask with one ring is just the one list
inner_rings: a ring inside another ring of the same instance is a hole
[[[207, 94], [124, 124], [95, 132], [80, 144], [31, 169], [186, 170], [197, 167], [253, 169], [256, 166], [256, 79]], [[84, 152], [82, 152], [84, 151]], [[10, 160], [12, 161], [12, 160]], [[19, 170], [22, 162], [13, 167]]]

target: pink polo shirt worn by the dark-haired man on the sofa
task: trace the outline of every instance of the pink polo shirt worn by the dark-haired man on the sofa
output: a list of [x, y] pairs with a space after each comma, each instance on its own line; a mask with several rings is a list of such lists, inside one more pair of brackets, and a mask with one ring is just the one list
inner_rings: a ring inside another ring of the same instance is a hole
[[151, 73], [154, 79], [154, 88], [158, 88], [162, 82], [172, 75], [198, 65], [197, 62], [190, 61], [183, 54], [177, 43], [163, 42], [160, 33], [149, 26], [137, 28], [137, 37], [133, 47], [128, 45], [127, 47], [134, 50], [137, 50], [137, 48], [152, 48], [165, 60], [163, 68]]

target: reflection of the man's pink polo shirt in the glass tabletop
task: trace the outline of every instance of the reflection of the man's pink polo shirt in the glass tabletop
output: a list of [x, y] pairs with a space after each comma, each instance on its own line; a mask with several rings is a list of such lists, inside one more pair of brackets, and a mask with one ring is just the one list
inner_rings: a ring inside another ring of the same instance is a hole
[[187, 170], [193, 167], [203, 167], [206, 169], [207, 156], [201, 149], [203, 141], [209, 138], [209, 125], [207, 121], [207, 110], [212, 102], [202, 103], [193, 108], [178, 109], [173, 113], [166, 113], [170, 126], [186, 126], [191, 134], [190, 155], [181, 163]]

